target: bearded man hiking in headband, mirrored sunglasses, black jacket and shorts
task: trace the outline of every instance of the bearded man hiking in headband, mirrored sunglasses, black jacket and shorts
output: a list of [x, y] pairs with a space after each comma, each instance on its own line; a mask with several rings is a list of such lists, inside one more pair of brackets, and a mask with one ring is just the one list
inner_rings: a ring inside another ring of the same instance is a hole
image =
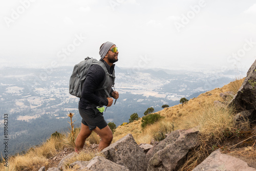
[[[115, 65], [113, 63], [118, 61], [118, 53], [116, 45], [112, 42], [107, 41], [100, 46], [100, 61], [104, 63], [110, 74], [114, 72]], [[88, 70], [78, 106], [82, 123], [81, 131], [76, 138], [75, 151], [77, 153], [82, 150], [86, 139], [91, 135], [92, 131], [101, 138], [98, 151], [109, 146], [113, 139], [112, 131], [104, 120], [102, 113], [104, 109], [102, 108], [104, 108], [103, 105], [111, 106], [113, 98], [118, 99], [119, 94], [112, 89], [114, 84], [114, 78], [112, 77], [110, 77], [112, 81], [106, 85], [106, 90], [109, 94], [106, 94], [105, 90], [98, 90], [102, 87], [106, 77], [105, 71], [99, 65], [92, 65]]]

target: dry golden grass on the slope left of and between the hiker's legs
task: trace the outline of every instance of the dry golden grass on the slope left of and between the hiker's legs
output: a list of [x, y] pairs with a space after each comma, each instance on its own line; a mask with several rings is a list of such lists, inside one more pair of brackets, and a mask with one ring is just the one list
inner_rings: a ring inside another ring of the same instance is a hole
[[[79, 129], [74, 129], [75, 137], [80, 132]], [[56, 155], [61, 151], [64, 147], [74, 147], [74, 144], [71, 141], [71, 136], [69, 133], [66, 135], [61, 135], [60, 137], [52, 137], [48, 139], [46, 142], [42, 143], [42, 145], [37, 147], [30, 148], [26, 154], [24, 155], [16, 155], [9, 158], [8, 162], [8, 170], [38, 170], [42, 165], [48, 165], [49, 158]], [[89, 138], [91, 143], [99, 143], [99, 137], [97, 134], [92, 134]], [[87, 141], [87, 143], [90, 143]], [[91, 155], [80, 155], [81, 158], [88, 158]], [[91, 160], [91, 159], [90, 159]], [[1, 163], [0, 170], [4, 170], [6, 167]]]

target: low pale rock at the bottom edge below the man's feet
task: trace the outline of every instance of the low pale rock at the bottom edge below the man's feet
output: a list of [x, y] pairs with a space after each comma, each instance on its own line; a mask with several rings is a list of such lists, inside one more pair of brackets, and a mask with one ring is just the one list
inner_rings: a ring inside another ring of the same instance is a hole
[[[77, 165], [75, 167], [75, 165]], [[88, 162], [76, 161], [70, 165], [75, 167], [76, 170], [91, 170], [91, 171], [129, 171], [126, 167], [116, 164], [104, 157], [96, 156]]]

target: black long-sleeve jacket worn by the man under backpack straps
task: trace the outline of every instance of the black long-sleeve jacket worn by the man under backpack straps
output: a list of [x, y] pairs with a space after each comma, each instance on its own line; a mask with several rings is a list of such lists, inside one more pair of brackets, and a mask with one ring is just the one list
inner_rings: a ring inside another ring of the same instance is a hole
[[[102, 61], [106, 68], [108, 69], [109, 73], [112, 74], [115, 68], [115, 65], [112, 65], [111, 67], [106, 63], [104, 60]], [[101, 88], [104, 80], [105, 80], [105, 71], [100, 67], [99, 65], [93, 65], [88, 70], [86, 80], [83, 84], [82, 89], [82, 97], [79, 101], [79, 108], [81, 109], [90, 109], [94, 108], [98, 105], [108, 105], [108, 95], [106, 95], [104, 90], [98, 90]], [[114, 79], [112, 80], [114, 83]], [[111, 84], [112, 86], [113, 84]], [[112, 96], [113, 90], [111, 89], [110, 96]]]

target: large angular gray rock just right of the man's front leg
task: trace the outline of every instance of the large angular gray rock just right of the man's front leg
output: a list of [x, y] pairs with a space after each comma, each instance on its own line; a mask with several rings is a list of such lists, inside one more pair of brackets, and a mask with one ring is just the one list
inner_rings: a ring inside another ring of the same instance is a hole
[[106, 159], [123, 165], [130, 170], [146, 170], [147, 161], [143, 149], [135, 142], [132, 134], [128, 134], [101, 151]]

